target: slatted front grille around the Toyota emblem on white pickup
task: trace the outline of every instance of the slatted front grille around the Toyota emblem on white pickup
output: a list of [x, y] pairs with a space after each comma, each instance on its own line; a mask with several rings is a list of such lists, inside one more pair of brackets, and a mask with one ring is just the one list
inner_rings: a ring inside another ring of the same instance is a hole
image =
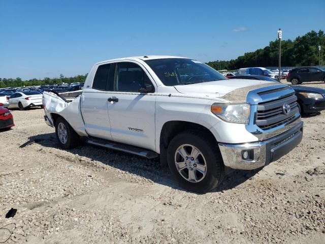
[[[283, 111], [283, 105], [285, 104], [290, 106], [288, 114], [285, 114]], [[257, 105], [255, 122], [259, 128], [268, 130], [286, 123], [298, 112], [297, 97], [295, 95], [288, 95], [284, 98], [259, 103]]]

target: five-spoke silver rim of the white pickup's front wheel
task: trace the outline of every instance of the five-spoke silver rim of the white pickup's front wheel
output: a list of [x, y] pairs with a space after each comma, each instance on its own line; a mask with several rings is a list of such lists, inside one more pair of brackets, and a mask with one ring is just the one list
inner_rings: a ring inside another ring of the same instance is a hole
[[207, 163], [201, 151], [190, 144], [179, 146], [175, 152], [178, 173], [189, 182], [200, 182], [207, 173]]

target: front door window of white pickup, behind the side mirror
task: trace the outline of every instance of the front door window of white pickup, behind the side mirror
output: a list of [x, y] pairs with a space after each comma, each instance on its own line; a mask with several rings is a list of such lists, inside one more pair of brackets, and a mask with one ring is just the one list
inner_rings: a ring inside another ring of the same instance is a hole
[[154, 92], [153, 85], [144, 70], [134, 63], [117, 63], [114, 79], [115, 92], [135, 92], [139, 89], [146, 88], [146, 85], [151, 85]]

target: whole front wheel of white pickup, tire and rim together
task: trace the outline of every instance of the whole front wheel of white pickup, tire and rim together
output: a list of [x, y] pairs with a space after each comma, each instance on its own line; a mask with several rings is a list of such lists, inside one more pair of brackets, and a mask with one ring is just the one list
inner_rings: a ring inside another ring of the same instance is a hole
[[224, 175], [218, 146], [208, 133], [185, 131], [168, 146], [168, 166], [186, 190], [205, 193], [217, 187]]

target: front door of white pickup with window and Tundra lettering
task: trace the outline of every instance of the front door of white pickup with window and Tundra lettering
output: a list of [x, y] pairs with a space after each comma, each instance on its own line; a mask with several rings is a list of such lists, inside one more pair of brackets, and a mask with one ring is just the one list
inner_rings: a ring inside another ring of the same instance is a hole
[[154, 91], [140, 64], [116, 63], [108, 105], [112, 140], [155, 150]]

